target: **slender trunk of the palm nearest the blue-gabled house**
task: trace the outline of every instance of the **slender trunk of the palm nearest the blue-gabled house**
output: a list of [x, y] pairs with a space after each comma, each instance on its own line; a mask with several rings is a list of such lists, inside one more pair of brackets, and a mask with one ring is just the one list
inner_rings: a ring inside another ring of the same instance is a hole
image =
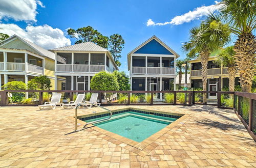
[[[201, 64], [202, 64], [202, 81], [203, 81], [203, 91], [207, 91], [207, 65], [209, 60], [210, 52], [205, 49], [200, 52]], [[203, 93], [203, 103], [207, 102], [206, 93]]]

